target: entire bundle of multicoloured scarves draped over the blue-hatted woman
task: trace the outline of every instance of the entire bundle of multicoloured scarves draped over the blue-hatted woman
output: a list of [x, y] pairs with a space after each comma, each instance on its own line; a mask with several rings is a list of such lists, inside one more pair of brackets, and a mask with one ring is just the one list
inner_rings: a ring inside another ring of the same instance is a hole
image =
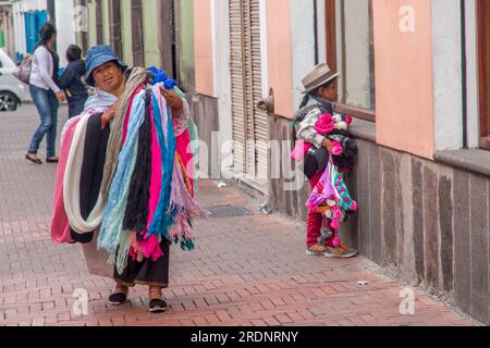
[[[61, 159], [66, 165], [60, 166], [57, 182], [63, 195], [56, 199], [53, 240], [73, 243], [68, 238], [70, 228], [81, 235], [99, 228], [97, 247], [109, 252], [109, 262], [120, 274], [130, 257], [161, 258], [163, 240], [193, 250], [193, 219], [207, 215], [194, 200], [193, 173], [187, 173], [188, 167], [194, 169], [195, 156], [187, 153], [189, 132], [182, 123], [179, 136], [174, 130], [174, 119], [191, 123], [188, 104], [183, 98], [182, 113], [172, 114], [160, 92], [163, 83], [146, 87], [143, 77], [142, 70], [135, 69], [120, 99], [106, 137], [107, 160], [97, 171], [100, 192], [87, 219], [81, 213], [79, 183], [84, 145], [91, 140], [85, 136], [93, 113], [77, 117], [66, 129], [62, 148], [69, 154], [66, 161]], [[174, 90], [183, 97], [176, 87]]]

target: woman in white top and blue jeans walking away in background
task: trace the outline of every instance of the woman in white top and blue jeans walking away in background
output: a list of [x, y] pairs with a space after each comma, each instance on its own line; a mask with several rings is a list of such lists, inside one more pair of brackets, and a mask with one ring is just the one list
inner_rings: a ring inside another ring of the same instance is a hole
[[58, 107], [64, 101], [64, 95], [57, 85], [60, 59], [54, 52], [57, 40], [56, 28], [46, 23], [39, 30], [40, 41], [37, 44], [33, 57], [33, 70], [29, 79], [29, 90], [40, 116], [40, 125], [33, 136], [26, 159], [36, 164], [42, 164], [37, 157], [39, 145], [47, 136], [48, 163], [58, 163], [56, 157], [56, 139], [58, 125]]

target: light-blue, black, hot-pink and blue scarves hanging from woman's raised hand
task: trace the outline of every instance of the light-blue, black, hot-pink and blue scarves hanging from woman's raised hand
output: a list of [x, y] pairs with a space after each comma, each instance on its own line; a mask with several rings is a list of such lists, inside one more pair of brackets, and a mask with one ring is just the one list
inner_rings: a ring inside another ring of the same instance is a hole
[[193, 189], [161, 85], [140, 91], [127, 114], [127, 129], [109, 192], [99, 248], [119, 271], [127, 258], [158, 260], [163, 239], [192, 250], [192, 220], [206, 216]]

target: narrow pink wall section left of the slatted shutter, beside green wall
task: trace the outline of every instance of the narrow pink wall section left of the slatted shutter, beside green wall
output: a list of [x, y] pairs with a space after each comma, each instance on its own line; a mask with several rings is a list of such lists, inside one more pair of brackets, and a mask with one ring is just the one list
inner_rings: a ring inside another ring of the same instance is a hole
[[196, 91], [215, 96], [211, 0], [194, 1]]

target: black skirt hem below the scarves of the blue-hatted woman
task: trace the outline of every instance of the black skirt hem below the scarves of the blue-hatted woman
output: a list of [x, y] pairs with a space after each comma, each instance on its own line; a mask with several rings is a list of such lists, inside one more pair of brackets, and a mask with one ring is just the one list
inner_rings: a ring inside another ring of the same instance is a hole
[[123, 274], [119, 274], [114, 269], [114, 279], [128, 287], [135, 285], [169, 287], [170, 245], [169, 240], [160, 243], [163, 256], [157, 261], [145, 259], [138, 262], [130, 257]]

